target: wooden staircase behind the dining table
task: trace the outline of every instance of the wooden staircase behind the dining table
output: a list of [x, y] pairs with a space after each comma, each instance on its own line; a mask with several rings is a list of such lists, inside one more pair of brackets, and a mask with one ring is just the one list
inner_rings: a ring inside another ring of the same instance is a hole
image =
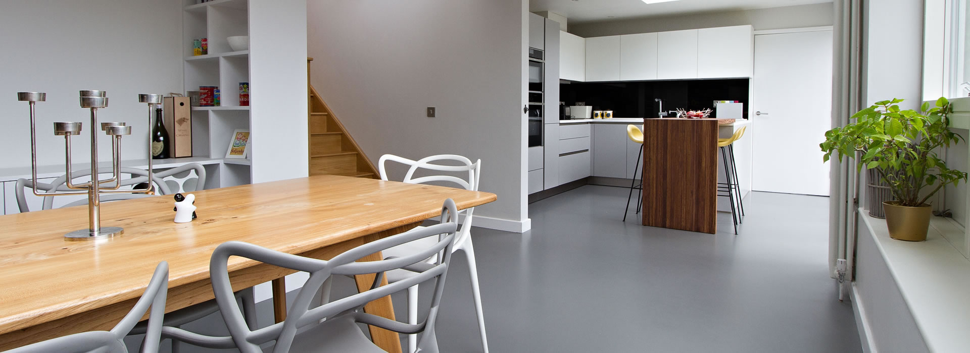
[[[307, 76], [309, 63], [307, 58]], [[327, 103], [309, 85], [309, 175], [343, 175], [376, 179], [377, 169], [343, 128]]]

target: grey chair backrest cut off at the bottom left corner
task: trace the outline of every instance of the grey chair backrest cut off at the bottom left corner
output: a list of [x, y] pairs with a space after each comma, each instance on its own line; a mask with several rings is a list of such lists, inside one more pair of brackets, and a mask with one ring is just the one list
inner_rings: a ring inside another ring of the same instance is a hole
[[148, 281], [148, 287], [142, 298], [135, 303], [135, 307], [128, 311], [114, 325], [112, 331], [91, 331], [80, 334], [69, 335], [61, 338], [51, 338], [45, 341], [25, 345], [8, 353], [82, 353], [82, 352], [105, 352], [105, 353], [124, 353], [127, 352], [123, 339], [128, 336], [135, 324], [142, 320], [142, 316], [148, 308], [148, 325], [145, 339], [142, 341], [142, 352], [158, 352], [158, 344], [161, 340], [162, 320], [165, 316], [165, 297], [169, 287], [169, 264], [162, 261], [155, 267], [155, 273]]

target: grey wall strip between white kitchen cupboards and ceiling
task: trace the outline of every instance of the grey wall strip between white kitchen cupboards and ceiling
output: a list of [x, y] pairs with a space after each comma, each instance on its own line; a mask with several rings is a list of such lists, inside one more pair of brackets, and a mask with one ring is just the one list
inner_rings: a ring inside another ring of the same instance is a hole
[[711, 14], [674, 15], [615, 21], [569, 23], [569, 33], [579, 37], [677, 31], [750, 24], [760, 29], [832, 25], [832, 4], [813, 4]]

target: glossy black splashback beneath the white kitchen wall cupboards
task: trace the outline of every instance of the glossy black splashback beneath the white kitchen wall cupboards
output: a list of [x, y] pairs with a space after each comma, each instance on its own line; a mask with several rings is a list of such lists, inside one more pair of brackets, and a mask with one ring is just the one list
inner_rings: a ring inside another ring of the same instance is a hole
[[[585, 102], [593, 110], [613, 110], [617, 118], [657, 116], [657, 102], [663, 110], [714, 108], [714, 101], [744, 103], [748, 118], [748, 78], [691, 79], [676, 81], [572, 82], [560, 84], [560, 102], [575, 105]], [[711, 113], [711, 117], [714, 113]]]

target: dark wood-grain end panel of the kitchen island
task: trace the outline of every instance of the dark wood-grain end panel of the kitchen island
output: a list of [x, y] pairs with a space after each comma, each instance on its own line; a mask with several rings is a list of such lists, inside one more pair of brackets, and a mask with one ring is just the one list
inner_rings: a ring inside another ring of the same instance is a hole
[[643, 225], [717, 231], [718, 119], [644, 119]]

